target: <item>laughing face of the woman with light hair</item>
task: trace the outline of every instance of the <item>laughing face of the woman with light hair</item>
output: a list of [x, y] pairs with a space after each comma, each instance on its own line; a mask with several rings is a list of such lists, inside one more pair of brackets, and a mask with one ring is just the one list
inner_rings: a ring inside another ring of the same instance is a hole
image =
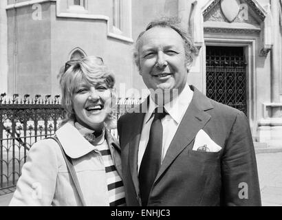
[[105, 83], [89, 85], [82, 80], [74, 91], [72, 103], [78, 123], [100, 131], [111, 112], [111, 89]]

